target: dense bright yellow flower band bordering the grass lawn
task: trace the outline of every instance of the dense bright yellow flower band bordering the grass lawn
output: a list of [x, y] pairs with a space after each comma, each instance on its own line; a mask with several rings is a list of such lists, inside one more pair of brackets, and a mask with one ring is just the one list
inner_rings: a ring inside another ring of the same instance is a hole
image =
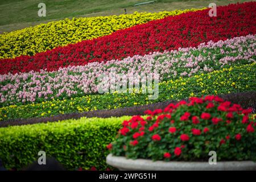
[[14, 58], [20, 55], [35, 55], [35, 53], [44, 52], [58, 46], [98, 38], [136, 24], [162, 19], [166, 16], [179, 15], [188, 11], [197, 11], [197, 9], [159, 13], [135, 12], [127, 15], [73, 18], [39, 24], [35, 27], [1, 34], [0, 59]]

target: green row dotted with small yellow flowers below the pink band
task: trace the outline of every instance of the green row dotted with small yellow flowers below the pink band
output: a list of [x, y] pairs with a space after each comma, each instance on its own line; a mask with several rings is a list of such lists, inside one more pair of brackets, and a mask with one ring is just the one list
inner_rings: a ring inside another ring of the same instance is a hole
[[256, 88], [256, 63], [239, 67], [223, 68], [221, 71], [201, 73], [192, 77], [180, 77], [159, 84], [159, 97], [148, 100], [147, 94], [114, 93], [89, 95], [70, 100], [53, 100], [40, 104], [11, 105], [0, 108], [1, 120], [32, 118], [75, 113], [97, 109], [115, 109], [134, 105], [146, 105], [170, 99], [181, 100], [206, 94], [222, 94], [253, 91]]

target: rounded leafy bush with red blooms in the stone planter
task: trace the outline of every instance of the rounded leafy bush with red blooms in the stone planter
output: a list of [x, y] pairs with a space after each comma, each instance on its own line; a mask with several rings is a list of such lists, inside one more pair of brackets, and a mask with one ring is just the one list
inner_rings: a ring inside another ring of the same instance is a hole
[[251, 111], [218, 96], [191, 97], [123, 121], [108, 148], [131, 159], [208, 161], [216, 151], [217, 160], [256, 160]]

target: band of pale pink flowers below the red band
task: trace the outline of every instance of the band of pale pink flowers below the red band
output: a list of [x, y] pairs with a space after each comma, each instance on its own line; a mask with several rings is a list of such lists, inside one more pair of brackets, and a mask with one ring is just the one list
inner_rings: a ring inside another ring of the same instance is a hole
[[[212, 72], [230, 65], [249, 64], [256, 61], [255, 35], [208, 42], [198, 48], [180, 48], [179, 51], [154, 52], [151, 55], [127, 57], [104, 63], [89, 63], [85, 66], [62, 68], [54, 72], [29, 72], [0, 75], [0, 102], [28, 104], [81, 97], [98, 93], [97, 78], [101, 74], [122, 73], [126, 77], [158, 73], [160, 81], [191, 77]], [[116, 75], [115, 84], [123, 75]], [[110, 82], [109, 77], [109, 82]], [[106, 88], [105, 88], [106, 89]]]

